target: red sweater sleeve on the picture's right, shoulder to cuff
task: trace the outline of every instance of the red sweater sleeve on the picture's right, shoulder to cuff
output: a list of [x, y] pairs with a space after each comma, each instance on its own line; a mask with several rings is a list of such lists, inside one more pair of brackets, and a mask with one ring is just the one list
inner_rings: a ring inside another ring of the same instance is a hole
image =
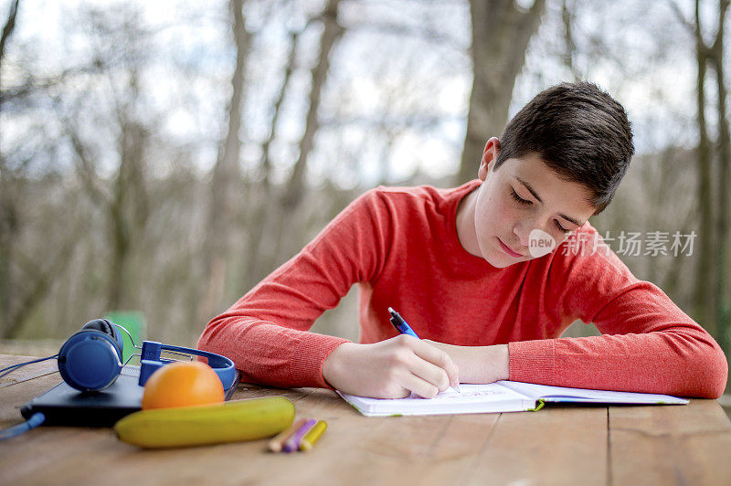
[[556, 312], [569, 322], [594, 322], [602, 335], [510, 343], [511, 380], [702, 398], [723, 394], [728, 364], [720, 346], [658, 287], [636, 279], [609, 247], [599, 241], [573, 258], [556, 257], [546, 273]]

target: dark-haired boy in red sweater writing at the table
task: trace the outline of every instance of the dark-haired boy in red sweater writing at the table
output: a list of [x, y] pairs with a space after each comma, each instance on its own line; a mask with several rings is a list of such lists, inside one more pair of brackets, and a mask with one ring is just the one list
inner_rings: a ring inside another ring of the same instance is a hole
[[[198, 347], [233, 359], [243, 381], [359, 396], [511, 379], [718, 397], [728, 365], [713, 338], [600, 238], [577, 248], [597, 239], [588, 218], [633, 153], [609, 94], [588, 82], [542, 91], [488, 140], [478, 180], [366, 192], [208, 322]], [[535, 235], [556, 248], [535, 255]], [[360, 343], [308, 333], [354, 283]], [[389, 306], [423, 341], [397, 335]], [[577, 319], [602, 335], [558, 338]]]

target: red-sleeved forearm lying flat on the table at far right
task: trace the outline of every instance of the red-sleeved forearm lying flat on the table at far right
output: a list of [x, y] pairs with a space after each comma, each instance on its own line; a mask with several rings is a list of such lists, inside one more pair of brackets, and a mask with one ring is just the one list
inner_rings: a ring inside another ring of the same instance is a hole
[[510, 344], [515, 381], [623, 392], [717, 398], [723, 350], [700, 326]]

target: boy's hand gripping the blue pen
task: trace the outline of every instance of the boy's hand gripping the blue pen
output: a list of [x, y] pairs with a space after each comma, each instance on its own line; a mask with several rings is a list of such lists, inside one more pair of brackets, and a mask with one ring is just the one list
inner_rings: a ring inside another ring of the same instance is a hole
[[400, 334], [372, 344], [343, 343], [323, 363], [330, 386], [357, 396], [431, 398], [458, 385], [450, 355], [413, 336]]

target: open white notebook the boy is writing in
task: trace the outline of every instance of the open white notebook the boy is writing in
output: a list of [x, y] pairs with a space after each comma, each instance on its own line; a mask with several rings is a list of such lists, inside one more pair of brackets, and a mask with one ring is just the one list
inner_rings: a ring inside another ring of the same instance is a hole
[[688, 400], [676, 396], [587, 390], [506, 380], [487, 385], [461, 384], [460, 390], [458, 393], [449, 388], [429, 399], [412, 395], [394, 400], [347, 395], [339, 391], [337, 393], [368, 417], [522, 412], [538, 410], [546, 402], [643, 405], [688, 403]]

